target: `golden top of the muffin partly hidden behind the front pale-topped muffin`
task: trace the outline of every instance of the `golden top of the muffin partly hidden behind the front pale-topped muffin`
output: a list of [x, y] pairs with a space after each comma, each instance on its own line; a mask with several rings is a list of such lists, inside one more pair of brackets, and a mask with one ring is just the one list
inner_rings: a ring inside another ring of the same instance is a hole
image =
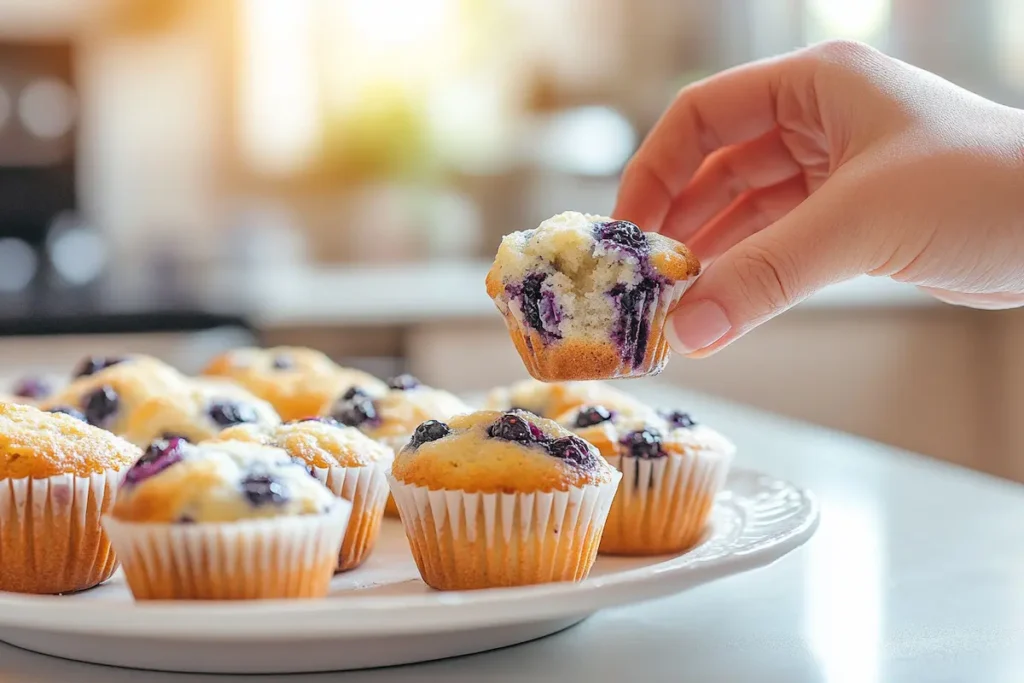
[[394, 452], [355, 427], [331, 418], [313, 418], [283, 425], [228, 427], [211, 441], [249, 441], [272, 445], [309, 467], [367, 467], [390, 463]]

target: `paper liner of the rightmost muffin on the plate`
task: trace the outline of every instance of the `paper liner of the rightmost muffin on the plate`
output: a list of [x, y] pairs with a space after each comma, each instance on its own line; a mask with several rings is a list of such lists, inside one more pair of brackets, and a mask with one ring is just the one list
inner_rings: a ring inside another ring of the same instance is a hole
[[653, 460], [616, 456], [607, 461], [623, 473], [623, 480], [600, 552], [662, 555], [682, 552], [700, 541], [732, 455], [701, 451]]

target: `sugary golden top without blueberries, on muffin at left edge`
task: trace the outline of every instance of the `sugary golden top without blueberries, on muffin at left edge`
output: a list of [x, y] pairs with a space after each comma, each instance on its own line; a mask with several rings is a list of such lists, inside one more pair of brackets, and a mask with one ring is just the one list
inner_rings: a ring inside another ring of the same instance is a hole
[[130, 467], [141, 452], [78, 418], [0, 403], [0, 479], [86, 477]]

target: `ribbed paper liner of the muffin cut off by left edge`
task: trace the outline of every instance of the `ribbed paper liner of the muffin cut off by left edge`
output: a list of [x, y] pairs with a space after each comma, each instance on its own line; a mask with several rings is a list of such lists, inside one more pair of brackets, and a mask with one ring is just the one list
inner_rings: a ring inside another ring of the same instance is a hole
[[127, 471], [0, 480], [0, 591], [71, 593], [110, 579], [118, 562], [99, 520]]

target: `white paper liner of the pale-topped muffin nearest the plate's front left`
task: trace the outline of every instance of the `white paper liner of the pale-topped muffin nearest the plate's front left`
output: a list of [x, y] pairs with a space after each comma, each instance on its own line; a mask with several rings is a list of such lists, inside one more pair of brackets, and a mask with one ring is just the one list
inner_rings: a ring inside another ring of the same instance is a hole
[[103, 527], [136, 600], [258, 600], [327, 595], [351, 505], [323, 515]]

